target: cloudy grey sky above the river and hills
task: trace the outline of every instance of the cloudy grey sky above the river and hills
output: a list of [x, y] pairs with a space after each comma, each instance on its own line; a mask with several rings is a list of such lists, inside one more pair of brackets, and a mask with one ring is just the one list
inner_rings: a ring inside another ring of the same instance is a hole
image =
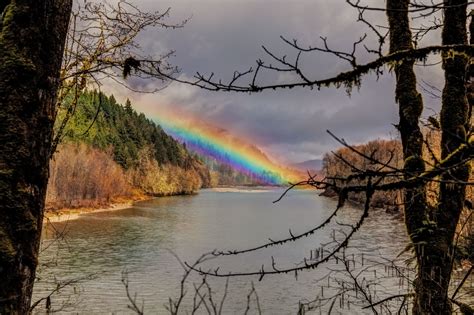
[[[384, 1], [372, 2], [384, 5]], [[181, 29], [149, 29], [139, 38], [147, 54], [175, 50], [170, 62], [181, 69], [181, 78], [191, 78], [200, 72], [228, 79], [235, 70], [255, 66], [256, 59], [270, 61], [262, 45], [275, 54], [294, 58], [295, 50], [284, 44], [280, 36], [298, 39], [304, 46], [320, 46], [320, 36], [324, 36], [331, 47], [340, 50], [351, 50], [353, 42], [364, 33], [369, 35], [368, 45], [374, 40], [370, 30], [356, 21], [357, 11], [344, 0], [135, 0], [134, 3], [143, 10], [171, 7], [169, 22], [190, 18]], [[386, 25], [384, 13], [367, 18], [374, 25]], [[428, 23], [415, 21], [424, 22]], [[427, 42], [435, 40], [436, 36]], [[359, 58], [363, 62], [375, 57], [361, 53]], [[305, 54], [302, 66], [313, 79], [350, 69], [347, 62], [323, 53]], [[416, 71], [428, 84], [442, 88], [439, 67], [420, 66]], [[294, 77], [280, 73], [265, 79], [288, 82]], [[147, 81], [131, 79], [128, 83], [136, 88], [153, 88]], [[151, 118], [165, 109], [186, 111], [257, 144], [282, 163], [318, 159], [339, 147], [326, 130], [352, 144], [397, 137], [393, 126], [398, 122], [395, 83], [389, 71], [379, 78], [365, 77], [361, 88], [355, 89], [350, 97], [343, 88], [333, 87], [257, 94], [209, 92], [178, 83], [155, 94], [131, 93], [113, 85], [108, 89], [119, 100], [130, 98], [138, 111]], [[436, 98], [425, 95], [424, 101], [425, 117], [439, 108]]]

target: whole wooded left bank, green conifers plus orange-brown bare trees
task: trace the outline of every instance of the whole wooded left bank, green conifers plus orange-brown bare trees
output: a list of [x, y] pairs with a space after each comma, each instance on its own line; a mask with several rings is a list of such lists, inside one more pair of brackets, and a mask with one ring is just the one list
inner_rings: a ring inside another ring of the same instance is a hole
[[[59, 112], [57, 132], [71, 104]], [[103, 93], [81, 94], [62, 134], [51, 162], [50, 208], [98, 206], [134, 190], [190, 194], [211, 185], [204, 163], [128, 100], [122, 106]]]

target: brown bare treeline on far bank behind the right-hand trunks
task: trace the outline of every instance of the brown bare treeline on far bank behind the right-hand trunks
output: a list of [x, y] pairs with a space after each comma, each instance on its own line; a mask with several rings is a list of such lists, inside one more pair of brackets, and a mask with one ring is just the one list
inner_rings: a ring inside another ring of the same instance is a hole
[[[427, 164], [427, 168], [432, 167], [440, 160], [440, 133], [436, 130], [425, 130], [426, 143], [424, 145], [424, 159]], [[370, 141], [363, 145], [354, 146], [359, 152], [370, 156], [374, 160], [386, 163], [387, 166], [381, 167], [380, 164], [370, 162], [363, 158], [354, 150], [350, 148], [340, 148], [335, 154], [326, 154], [323, 159], [323, 173], [328, 178], [335, 178], [333, 181], [338, 185], [344, 185], [342, 178], [347, 178], [353, 174], [354, 170], [380, 170], [380, 171], [391, 171], [391, 167], [402, 169], [403, 168], [403, 153], [402, 146], [398, 140], [375, 140]], [[337, 155], [337, 156], [336, 156]], [[471, 169], [473, 167], [471, 161]], [[340, 179], [338, 179], [340, 178]], [[385, 183], [390, 181], [398, 180], [388, 177], [384, 180]], [[469, 182], [474, 181], [474, 174], [471, 172]], [[365, 184], [365, 180], [352, 181], [351, 184]], [[427, 185], [428, 194], [428, 207], [436, 207], [437, 195], [439, 191], [439, 183], [432, 181]], [[326, 190], [322, 193], [325, 196], [335, 196], [335, 192]], [[349, 199], [358, 203], [365, 200], [365, 194], [363, 193], [350, 193]], [[472, 185], [467, 186], [466, 191], [467, 204], [473, 203], [474, 200], [474, 187]], [[377, 191], [372, 197], [371, 206], [384, 208], [388, 212], [397, 212], [402, 210], [403, 207], [403, 195], [401, 191]], [[468, 259], [474, 262], [474, 220], [473, 216], [470, 215], [472, 210], [465, 207], [461, 213], [461, 218], [458, 225], [459, 233], [459, 246], [457, 249], [458, 258]]]

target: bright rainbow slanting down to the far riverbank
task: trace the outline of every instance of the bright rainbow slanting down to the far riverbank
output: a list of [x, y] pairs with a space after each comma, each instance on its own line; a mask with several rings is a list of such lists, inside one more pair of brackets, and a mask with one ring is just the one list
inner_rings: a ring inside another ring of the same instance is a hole
[[165, 132], [200, 155], [211, 157], [269, 185], [285, 185], [301, 178], [294, 170], [272, 162], [250, 142], [230, 136], [202, 120], [183, 113], [160, 112], [153, 120]]

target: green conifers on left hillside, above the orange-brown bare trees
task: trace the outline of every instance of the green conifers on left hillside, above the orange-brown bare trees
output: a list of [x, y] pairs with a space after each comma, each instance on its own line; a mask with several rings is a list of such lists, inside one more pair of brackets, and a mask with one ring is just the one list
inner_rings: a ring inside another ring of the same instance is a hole
[[160, 164], [184, 166], [189, 157], [160, 126], [133, 110], [129, 100], [122, 106], [113, 95], [108, 97], [96, 91], [79, 96], [64, 136], [66, 141], [81, 141], [102, 150], [111, 147], [115, 161], [125, 169], [137, 166], [139, 151], [147, 146], [152, 147], [153, 157]]

